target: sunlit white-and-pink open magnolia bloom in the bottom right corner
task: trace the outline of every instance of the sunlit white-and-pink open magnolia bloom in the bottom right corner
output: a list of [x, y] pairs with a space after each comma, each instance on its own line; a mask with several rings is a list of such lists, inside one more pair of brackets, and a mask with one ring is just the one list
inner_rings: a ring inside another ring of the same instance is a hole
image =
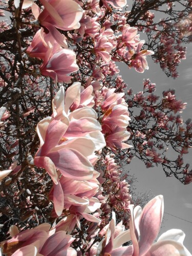
[[[130, 230], [123, 231], [121, 229], [118, 235], [116, 234], [115, 216], [113, 216], [106, 230], [105, 238], [93, 247], [93, 250], [97, 248], [96, 255], [190, 256], [190, 252], [183, 245], [185, 234], [180, 229], [168, 230], [154, 243], [160, 230], [163, 209], [162, 195], [158, 195], [148, 202], [143, 210], [140, 206], [136, 206], [133, 210], [133, 205], [130, 205]], [[123, 243], [130, 240], [132, 245], [122, 247]]]

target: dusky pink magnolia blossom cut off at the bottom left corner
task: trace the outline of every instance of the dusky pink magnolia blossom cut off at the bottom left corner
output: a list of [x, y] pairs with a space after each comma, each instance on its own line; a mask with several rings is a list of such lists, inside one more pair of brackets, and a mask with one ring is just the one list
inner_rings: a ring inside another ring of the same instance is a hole
[[10, 234], [12, 238], [2, 242], [2, 252], [13, 256], [59, 256], [63, 254], [76, 256], [76, 251], [70, 248], [75, 239], [65, 231], [56, 232], [54, 228], [50, 230], [50, 226], [49, 223], [44, 223], [20, 233], [16, 226], [11, 226]]

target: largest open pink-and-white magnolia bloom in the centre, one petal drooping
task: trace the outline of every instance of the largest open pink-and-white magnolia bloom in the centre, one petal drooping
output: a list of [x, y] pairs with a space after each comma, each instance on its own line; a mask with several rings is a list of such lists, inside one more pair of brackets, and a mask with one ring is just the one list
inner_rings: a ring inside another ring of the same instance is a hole
[[80, 83], [69, 87], [66, 95], [61, 87], [53, 100], [53, 115], [37, 125], [40, 147], [34, 157], [34, 164], [45, 168], [54, 182], [53, 203], [58, 216], [64, 206], [60, 173], [75, 181], [91, 180], [98, 159], [95, 151], [105, 146], [95, 110], [89, 107], [70, 110], [77, 99], [80, 102], [81, 96], [83, 102], [88, 97], [87, 103], [90, 103], [90, 93], [85, 94], [87, 96], [80, 93]]

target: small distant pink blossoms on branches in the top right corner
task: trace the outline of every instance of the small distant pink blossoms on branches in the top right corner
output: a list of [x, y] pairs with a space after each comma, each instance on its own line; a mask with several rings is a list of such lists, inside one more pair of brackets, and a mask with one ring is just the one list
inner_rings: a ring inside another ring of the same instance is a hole
[[[181, 7], [179, 15], [177, 5]], [[158, 13], [163, 17], [160, 21]], [[160, 64], [167, 76], [178, 77], [177, 67], [186, 55], [183, 43], [190, 42], [191, 37], [191, 1], [184, 5], [177, 0], [172, 3], [163, 0], [160, 5], [135, 1], [126, 17], [131, 26], [137, 25], [139, 31], [147, 34], [147, 47], [155, 52], [154, 61]]]

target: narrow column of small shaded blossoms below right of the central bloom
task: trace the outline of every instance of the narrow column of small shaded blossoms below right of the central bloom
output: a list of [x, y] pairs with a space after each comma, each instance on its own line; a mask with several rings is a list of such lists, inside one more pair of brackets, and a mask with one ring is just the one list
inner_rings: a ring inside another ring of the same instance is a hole
[[96, 169], [102, 170], [104, 182], [102, 182], [102, 210], [101, 224], [108, 224], [112, 210], [116, 213], [117, 219], [121, 220], [123, 225], [129, 227], [130, 211], [129, 205], [132, 203], [129, 192], [130, 185], [121, 178], [120, 166], [115, 163], [114, 154], [106, 153], [105, 157], [101, 158]]

